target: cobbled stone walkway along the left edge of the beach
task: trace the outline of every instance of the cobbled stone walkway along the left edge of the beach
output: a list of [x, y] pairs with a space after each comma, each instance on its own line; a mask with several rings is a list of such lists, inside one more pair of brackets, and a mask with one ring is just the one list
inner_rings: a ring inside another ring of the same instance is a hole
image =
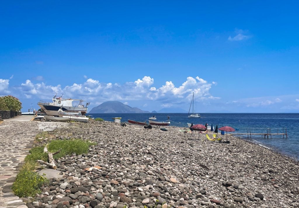
[[13, 195], [11, 186], [38, 133], [38, 123], [31, 119], [32, 116], [18, 116], [0, 124], [0, 208], [27, 207]]

